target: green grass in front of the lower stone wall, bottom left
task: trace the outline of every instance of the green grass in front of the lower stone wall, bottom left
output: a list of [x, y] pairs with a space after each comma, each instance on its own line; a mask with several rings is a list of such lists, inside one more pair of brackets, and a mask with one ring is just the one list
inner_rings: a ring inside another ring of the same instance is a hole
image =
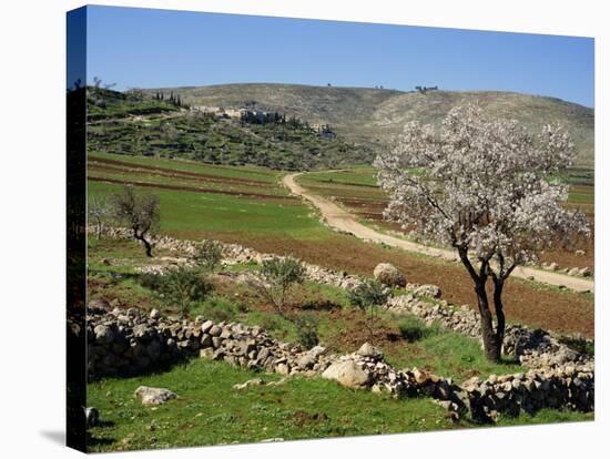
[[[321, 378], [292, 378], [277, 387], [235, 390], [265, 375], [225, 363], [192, 360], [159, 375], [103, 379], [88, 386], [88, 405], [100, 410], [92, 451], [133, 450], [345, 437], [449, 429], [445, 411], [429, 399], [394, 400], [343, 388]], [[141, 385], [164, 387], [180, 398], [155, 408], [133, 397]]]

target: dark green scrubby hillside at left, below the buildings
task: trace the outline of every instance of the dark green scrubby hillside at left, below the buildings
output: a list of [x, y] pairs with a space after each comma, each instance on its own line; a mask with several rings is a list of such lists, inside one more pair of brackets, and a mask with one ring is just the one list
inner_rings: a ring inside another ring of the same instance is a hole
[[190, 112], [139, 93], [89, 89], [90, 152], [166, 156], [209, 164], [254, 164], [282, 170], [369, 163], [374, 153], [340, 136], [324, 137], [307, 120], [277, 123]]

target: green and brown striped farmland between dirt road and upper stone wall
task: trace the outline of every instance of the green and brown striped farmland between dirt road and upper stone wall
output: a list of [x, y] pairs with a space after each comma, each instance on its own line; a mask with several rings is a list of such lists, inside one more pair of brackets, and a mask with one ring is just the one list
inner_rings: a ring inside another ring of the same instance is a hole
[[[465, 269], [435, 258], [367, 244], [324, 226], [312, 208], [288, 195], [283, 173], [256, 166], [205, 165], [194, 161], [90, 153], [90, 196], [125, 184], [152, 191], [161, 202], [161, 232], [186, 239], [212, 237], [264, 253], [295, 256], [334, 269], [370, 276], [393, 263], [409, 282], [439, 285], [444, 298], [472, 304]], [[507, 316], [533, 326], [593, 335], [593, 298], [511, 279]]]

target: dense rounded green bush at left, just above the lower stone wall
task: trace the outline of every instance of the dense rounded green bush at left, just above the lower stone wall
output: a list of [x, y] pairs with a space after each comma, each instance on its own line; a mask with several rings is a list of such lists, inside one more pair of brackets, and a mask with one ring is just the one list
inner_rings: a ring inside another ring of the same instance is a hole
[[214, 286], [197, 271], [180, 266], [160, 276], [156, 289], [165, 305], [177, 306], [186, 316], [193, 305], [213, 292]]

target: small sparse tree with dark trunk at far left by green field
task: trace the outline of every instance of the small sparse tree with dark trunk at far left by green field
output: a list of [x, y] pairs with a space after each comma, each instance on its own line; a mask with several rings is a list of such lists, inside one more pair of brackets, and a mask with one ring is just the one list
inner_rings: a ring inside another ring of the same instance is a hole
[[121, 224], [128, 225], [133, 237], [144, 245], [146, 256], [152, 256], [148, 235], [159, 226], [159, 196], [136, 194], [133, 187], [125, 186], [122, 193], [112, 196], [112, 214]]

